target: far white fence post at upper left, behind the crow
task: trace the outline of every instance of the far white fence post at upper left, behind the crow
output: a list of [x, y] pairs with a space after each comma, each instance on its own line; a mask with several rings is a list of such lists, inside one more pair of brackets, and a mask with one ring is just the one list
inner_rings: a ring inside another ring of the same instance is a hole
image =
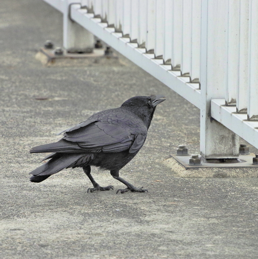
[[65, 0], [63, 12], [63, 47], [65, 49], [94, 48], [94, 36], [70, 18], [72, 4], [81, 4], [79, 0]]

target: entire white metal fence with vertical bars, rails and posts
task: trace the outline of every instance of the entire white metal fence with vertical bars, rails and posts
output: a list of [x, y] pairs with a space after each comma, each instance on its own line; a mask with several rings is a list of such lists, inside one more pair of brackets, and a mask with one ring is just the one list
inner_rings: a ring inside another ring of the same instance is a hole
[[238, 136], [258, 148], [257, 0], [44, 1], [64, 47], [93, 33], [200, 108], [205, 158], [238, 157]]

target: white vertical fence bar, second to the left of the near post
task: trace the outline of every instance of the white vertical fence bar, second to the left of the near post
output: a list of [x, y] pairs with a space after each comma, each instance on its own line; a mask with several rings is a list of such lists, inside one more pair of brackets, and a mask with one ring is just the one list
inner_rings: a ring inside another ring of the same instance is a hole
[[183, 41], [182, 41], [182, 61], [181, 72], [183, 75], [189, 74], [191, 69], [192, 52], [192, 2], [183, 0]]

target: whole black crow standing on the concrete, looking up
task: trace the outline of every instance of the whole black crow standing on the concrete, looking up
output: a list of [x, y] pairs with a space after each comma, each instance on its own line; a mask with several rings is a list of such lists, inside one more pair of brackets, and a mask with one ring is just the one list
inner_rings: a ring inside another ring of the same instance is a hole
[[31, 148], [30, 153], [54, 152], [42, 161], [50, 159], [29, 174], [31, 182], [42, 182], [64, 168], [82, 167], [96, 190], [113, 190], [113, 186], [101, 187], [90, 174], [90, 166], [110, 170], [110, 174], [127, 186], [119, 189], [145, 192], [119, 177], [119, 170], [139, 152], [143, 146], [153, 113], [157, 104], [166, 100], [163, 95], [135, 96], [125, 101], [121, 107], [100, 111], [86, 121], [60, 132], [63, 138], [58, 142]]

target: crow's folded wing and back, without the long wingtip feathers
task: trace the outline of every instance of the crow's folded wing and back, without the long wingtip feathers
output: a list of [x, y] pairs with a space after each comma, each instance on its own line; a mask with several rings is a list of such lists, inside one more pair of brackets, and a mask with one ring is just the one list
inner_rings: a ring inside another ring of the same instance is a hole
[[[95, 115], [94, 115], [95, 117]], [[130, 153], [139, 150], [147, 136], [147, 127], [138, 117], [124, 111], [100, 112], [98, 118], [87, 125], [78, 124], [64, 133], [64, 140], [77, 143], [88, 152], [120, 152], [130, 149]], [[88, 120], [89, 120], [88, 119]], [[86, 120], [86, 121], [88, 121]]]

